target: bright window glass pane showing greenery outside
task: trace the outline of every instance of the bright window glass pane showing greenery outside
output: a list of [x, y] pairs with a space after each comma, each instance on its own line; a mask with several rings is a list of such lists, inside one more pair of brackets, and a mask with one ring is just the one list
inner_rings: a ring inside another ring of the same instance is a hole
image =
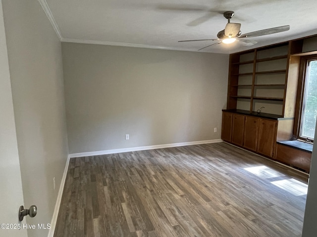
[[317, 58], [305, 58], [298, 137], [314, 141], [317, 118]]

